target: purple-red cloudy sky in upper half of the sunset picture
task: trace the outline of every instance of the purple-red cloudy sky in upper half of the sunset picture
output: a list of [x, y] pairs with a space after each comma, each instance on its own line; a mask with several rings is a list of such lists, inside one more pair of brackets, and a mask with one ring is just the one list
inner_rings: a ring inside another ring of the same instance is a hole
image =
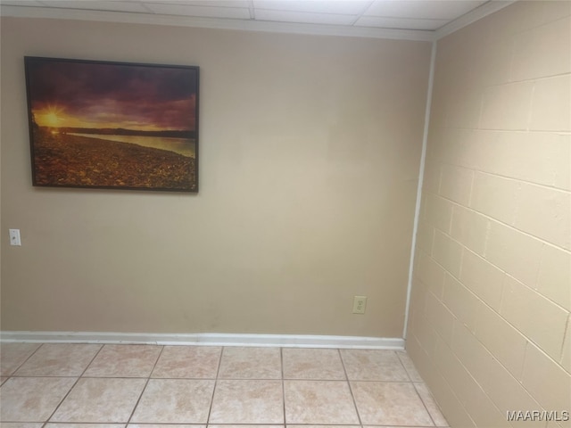
[[195, 69], [45, 60], [27, 67], [39, 126], [195, 129]]

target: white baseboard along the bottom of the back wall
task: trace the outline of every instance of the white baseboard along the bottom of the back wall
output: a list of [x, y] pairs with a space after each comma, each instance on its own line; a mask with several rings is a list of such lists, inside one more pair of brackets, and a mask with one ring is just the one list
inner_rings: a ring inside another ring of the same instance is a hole
[[137, 343], [157, 345], [277, 346], [283, 348], [404, 350], [404, 339], [401, 338], [319, 336], [305, 334], [0, 332], [0, 342]]

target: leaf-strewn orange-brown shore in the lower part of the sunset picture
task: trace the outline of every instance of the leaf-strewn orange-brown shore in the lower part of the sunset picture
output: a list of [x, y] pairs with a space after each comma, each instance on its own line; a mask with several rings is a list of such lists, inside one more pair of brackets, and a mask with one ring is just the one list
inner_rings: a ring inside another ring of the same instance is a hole
[[196, 162], [167, 150], [34, 130], [35, 185], [196, 192]]

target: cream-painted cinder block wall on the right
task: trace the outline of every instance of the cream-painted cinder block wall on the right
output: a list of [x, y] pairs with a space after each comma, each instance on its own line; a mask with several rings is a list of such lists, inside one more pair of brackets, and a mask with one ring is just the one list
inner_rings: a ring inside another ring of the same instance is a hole
[[571, 410], [571, 3], [438, 42], [407, 350], [452, 427]]

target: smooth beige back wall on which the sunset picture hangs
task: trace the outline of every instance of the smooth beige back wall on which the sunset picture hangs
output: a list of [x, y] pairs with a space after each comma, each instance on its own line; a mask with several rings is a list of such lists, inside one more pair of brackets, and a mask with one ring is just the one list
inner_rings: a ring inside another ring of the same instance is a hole
[[[200, 66], [200, 193], [32, 187], [24, 55]], [[4, 18], [2, 329], [401, 337], [429, 56]]]

